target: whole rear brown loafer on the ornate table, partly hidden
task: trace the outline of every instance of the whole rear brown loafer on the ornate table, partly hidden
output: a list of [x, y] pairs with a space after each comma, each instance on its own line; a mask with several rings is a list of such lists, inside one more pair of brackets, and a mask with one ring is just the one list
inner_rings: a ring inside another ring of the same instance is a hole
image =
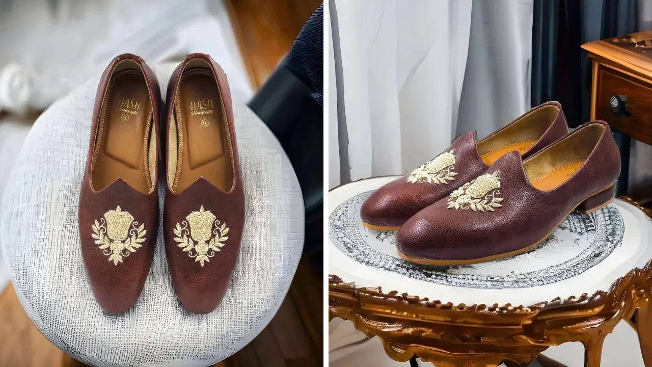
[[432, 161], [372, 193], [360, 211], [363, 225], [396, 231], [412, 215], [473, 180], [505, 153], [516, 150], [527, 158], [567, 133], [566, 118], [556, 102], [532, 108], [479, 142], [469, 131]]

